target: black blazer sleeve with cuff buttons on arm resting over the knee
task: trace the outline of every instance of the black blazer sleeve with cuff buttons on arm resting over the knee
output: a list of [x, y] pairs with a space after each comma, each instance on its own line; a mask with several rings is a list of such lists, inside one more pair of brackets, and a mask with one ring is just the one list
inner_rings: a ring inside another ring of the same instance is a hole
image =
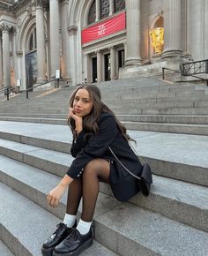
[[72, 178], [78, 178], [85, 169], [87, 162], [105, 154], [118, 132], [114, 117], [103, 114], [99, 121], [99, 132], [93, 134], [85, 147], [77, 154], [67, 174]]

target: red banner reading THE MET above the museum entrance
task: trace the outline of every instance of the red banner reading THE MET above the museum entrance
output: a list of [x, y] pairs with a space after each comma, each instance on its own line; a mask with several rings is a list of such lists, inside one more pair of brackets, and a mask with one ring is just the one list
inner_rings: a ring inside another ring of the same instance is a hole
[[122, 12], [110, 19], [82, 30], [82, 44], [114, 34], [126, 28], [126, 13]]

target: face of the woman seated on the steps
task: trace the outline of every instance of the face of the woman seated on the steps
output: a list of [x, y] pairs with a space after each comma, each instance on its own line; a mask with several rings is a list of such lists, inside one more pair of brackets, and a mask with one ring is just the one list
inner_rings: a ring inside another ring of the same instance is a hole
[[79, 89], [75, 94], [73, 110], [78, 117], [85, 117], [93, 109], [93, 101], [86, 89]]

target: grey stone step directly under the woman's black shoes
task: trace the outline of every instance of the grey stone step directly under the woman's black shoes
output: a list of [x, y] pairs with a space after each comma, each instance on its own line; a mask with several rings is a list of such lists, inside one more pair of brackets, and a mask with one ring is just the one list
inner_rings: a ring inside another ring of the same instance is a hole
[[[4, 244], [17, 256], [41, 256], [41, 245], [54, 232], [56, 224], [62, 220], [2, 183], [0, 199], [4, 208], [0, 215], [1, 239], [4, 239]], [[94, 240], [93, 245], [80, 255], [117, 254]]]

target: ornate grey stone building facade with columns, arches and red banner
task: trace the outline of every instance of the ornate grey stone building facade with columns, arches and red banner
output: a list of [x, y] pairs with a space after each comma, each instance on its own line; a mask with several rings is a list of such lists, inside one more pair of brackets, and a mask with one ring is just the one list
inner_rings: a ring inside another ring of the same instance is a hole
[[0, 88], [76, 85], [208, 58], [208, 1], [0, 1]]

